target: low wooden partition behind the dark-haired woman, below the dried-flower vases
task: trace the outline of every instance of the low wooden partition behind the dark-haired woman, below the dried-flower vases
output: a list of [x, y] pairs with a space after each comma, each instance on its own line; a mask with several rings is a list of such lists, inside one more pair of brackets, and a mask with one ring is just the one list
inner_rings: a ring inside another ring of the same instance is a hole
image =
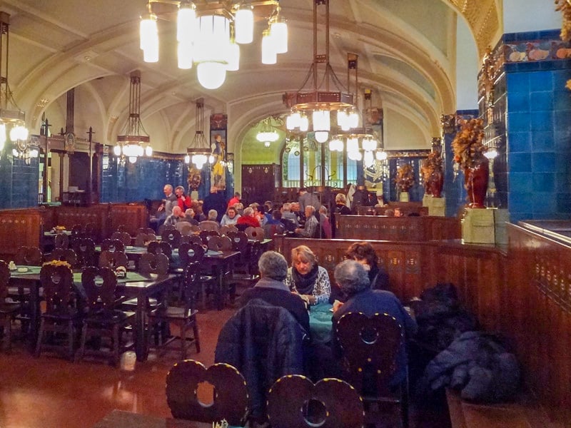
[[335, 237], [345, 239], [423, 242], [462, 236], [460, 220], [455, 217], [336, 215], [335, 221]]

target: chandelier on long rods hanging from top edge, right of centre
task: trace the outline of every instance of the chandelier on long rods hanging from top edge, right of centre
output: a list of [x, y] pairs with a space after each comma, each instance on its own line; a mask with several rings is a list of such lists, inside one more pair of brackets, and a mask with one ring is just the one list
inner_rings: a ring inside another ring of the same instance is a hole
[[[318, 6], [325, 6], [325, 54], [318, 54]], [[356, 60], [356, 55], [349, 54], [348, 70], [352, 68], [356, 70]], [[320, 79], [321, 83], [318, 85], [320, 64], [323, 64], [325, 69], [323, 78]], [[305, 84], [310, 80], [313, 83], [313, 89], [304, 91]], [[320, 86], [323, 83], [325, 83], [325, 88], [322, 91]], [[337, 91], [331, 91], [331, 84]], [[329, 0], [313, 0], [313, 62], [300, 91], [285, 93], [283, 96], [283, 102], [291, 109], [286, 120], [288, 130], [314, 131], [315, 140], [325, 143], [329, 138], [332, 123], [330, 116], [333, 111], [337, 112], [337, 125], [343, 131], [358, 127], [359, 115], [355, 108], [355, 97], [352, 93], [344, 93], [343, 88], [343, 84], [335, 76], [329, 63]]]

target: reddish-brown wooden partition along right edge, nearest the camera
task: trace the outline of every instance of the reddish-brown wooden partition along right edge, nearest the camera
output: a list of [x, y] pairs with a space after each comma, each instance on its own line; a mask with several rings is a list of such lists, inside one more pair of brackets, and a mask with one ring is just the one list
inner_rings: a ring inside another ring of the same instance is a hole
[[571, 245], [507, 225], [500, 329], [553, 421], [571, 424]]

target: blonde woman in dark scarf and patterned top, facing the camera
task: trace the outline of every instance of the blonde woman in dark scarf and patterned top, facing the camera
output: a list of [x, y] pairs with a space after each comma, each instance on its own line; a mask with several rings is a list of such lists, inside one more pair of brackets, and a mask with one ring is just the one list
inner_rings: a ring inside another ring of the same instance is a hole
[[331, 294], [327, 270], [317, 264], [315, 254], [305, 245], [291, 250], [291, 267], [285, 285], [298, 293], [308, 305], [328, 302]]

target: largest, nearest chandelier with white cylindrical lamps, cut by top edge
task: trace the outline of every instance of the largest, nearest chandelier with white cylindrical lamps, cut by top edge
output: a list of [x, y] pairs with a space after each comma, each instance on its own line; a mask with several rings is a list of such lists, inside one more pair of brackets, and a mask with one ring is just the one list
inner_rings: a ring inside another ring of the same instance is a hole
[[143, 58], [158, 61], [157, 19], [173, 19], [176, 12], [178, 68], [192, 68], [196, 63], [201, 85], [219, 88], [226, 80], [226, 71], [238, 70], [238, 44], [253, 41], [254, 6], [264, 6], [263, 12], [269, 16], [263, 32], [262, 63], [276, 63], [277, 54], [288, 51], [288, 26], [280, 15], [278, 0], [147, 0], [147, 14], [141, 16], [140, 28]]

